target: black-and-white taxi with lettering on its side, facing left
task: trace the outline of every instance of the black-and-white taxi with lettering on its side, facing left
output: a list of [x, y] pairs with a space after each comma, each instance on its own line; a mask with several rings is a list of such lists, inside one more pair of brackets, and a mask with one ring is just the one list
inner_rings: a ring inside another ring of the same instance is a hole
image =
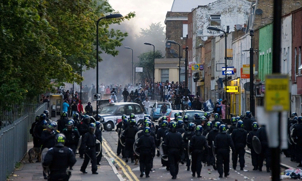
[[139, 104], [132, 102], [110, 103], [104, 105], [101, 111], [98, 112], [101, 116], [100, 122], [104, 125], [106, 131], [114, 129], [115, 125], [122, 121], [122, 115], [125, 114], [129, 118], [131, 113], [135, 114], [137, 123], [143, 120], [146, 115]]

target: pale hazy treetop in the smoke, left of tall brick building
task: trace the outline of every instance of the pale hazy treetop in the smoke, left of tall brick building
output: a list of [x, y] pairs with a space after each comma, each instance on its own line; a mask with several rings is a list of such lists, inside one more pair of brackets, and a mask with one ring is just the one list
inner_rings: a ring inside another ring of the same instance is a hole
[[143, 29], [140, 30], [140, 35], [136, 35], [136, 40], [141, 43], [144, 42], [150, 42], [155, 46], [155, 49], [161, 50], [162, 48], [165, 48], [165, 32], [162, 25], [159, 23], [151, 23], [149, 25], [149, 29]]

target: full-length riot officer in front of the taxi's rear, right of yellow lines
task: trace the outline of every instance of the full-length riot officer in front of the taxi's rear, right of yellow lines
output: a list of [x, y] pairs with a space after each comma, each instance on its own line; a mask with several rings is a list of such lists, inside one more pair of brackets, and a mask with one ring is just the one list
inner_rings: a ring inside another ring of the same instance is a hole
[[131, 158], [131, 163], [134, 163], [133, 144], [135, 142], [135, 135], [138, 132], [138, 129], [135, 126], [135, 124], [136, 124], [135, 119], [131, 119], [130, 126], [127, 127], [123, 133], [123, 136], [126, 138], [126, 145], [125, 145], [126, 163], [128, 162], [129, 157]]

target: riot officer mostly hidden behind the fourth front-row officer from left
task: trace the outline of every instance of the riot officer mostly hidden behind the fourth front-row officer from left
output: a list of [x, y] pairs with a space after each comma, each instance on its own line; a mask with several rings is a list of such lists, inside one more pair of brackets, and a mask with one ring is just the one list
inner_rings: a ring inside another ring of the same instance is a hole
[[[208, 136], [207, 136], [207, 141], [208, 141], [208, 145], [210, 146], [210, 149], [213, 149], [212, 146], [213, 146], [213, 141], [215, 140], [216, 136], [218, 135], [219, 133], [219, 126], [220, 126], [220, 122], [216, 122], [214, 125], [213, 125], [213, 130], [210, 130]], [[210, 151], [209, 154], [208, 154], [208, 159], [207, 159], [207, 163], [212, 165], [214, 170], [217, 170], [217, 167], [216, 167], [216, 164], [215, 164], [215, 158], [214, 158], [214, 155], [213, 155], [213, 152]]]

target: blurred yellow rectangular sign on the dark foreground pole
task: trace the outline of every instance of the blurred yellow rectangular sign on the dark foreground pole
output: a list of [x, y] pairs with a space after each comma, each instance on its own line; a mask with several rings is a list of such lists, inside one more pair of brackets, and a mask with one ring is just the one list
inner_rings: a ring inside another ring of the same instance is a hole
[[266, 111], [289, 111], [288, 75], [271, 74], [265, 78]]

